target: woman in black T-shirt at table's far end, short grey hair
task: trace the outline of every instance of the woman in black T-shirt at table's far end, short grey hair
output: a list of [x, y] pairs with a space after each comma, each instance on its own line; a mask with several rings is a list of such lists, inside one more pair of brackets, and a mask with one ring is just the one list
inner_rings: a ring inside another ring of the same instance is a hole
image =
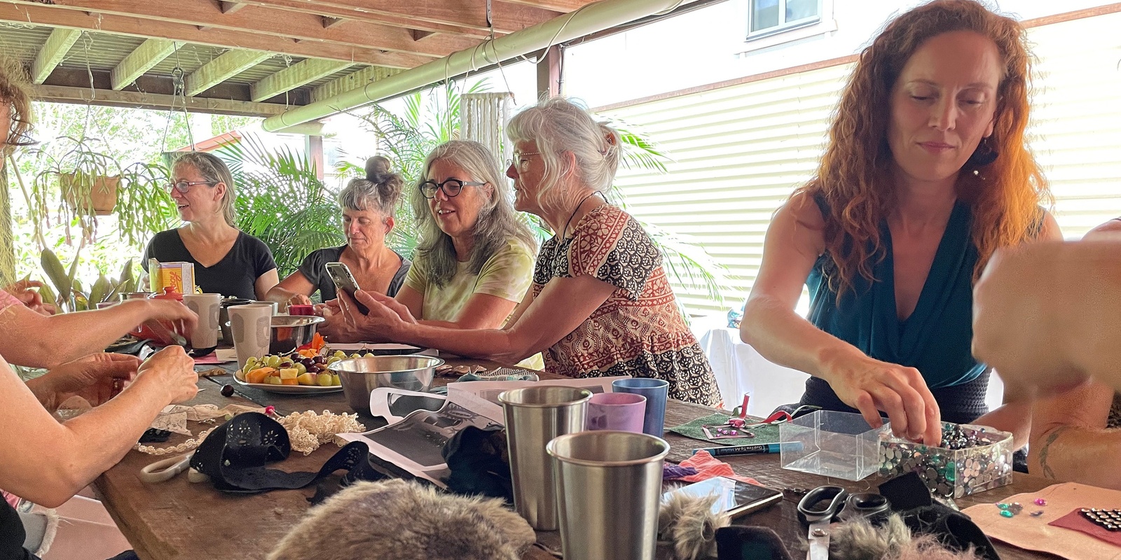
[[230, 168], [217, 156], [192, 151], [175, 160], [172, 177], [168, 189], [185, 224], [157, 233], [140, 264], [189, 262], [203, 292], [265, 299], [279, 281], [277, 265], [268, 245], [238, 230]]

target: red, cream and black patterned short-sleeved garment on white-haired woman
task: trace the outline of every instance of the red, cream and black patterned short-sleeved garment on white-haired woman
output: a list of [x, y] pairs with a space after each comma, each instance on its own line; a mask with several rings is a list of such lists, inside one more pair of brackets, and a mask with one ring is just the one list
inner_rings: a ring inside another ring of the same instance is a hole
[[669, 382], [670, 399], [720, 404], [716, 379], [677, 308], [661, 253], [633, 217], [603, 205], [581, 218], [572, 237], [546, 241], [534, 270], [534, 297], [553, 278], [578, 276], [593, 276], [615, 291], [545, 351], [546, 371], [657, 377]]

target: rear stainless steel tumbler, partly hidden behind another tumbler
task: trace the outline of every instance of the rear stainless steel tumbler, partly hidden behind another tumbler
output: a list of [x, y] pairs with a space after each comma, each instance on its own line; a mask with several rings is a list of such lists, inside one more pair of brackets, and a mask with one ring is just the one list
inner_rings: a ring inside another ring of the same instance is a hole
[[592, 392], [568, 386], [532, 386], [498, 395], [506, 418], [513, 475], [513, 506], [529, 525], [556, 531], [557, 506], [553, 463], [545, 444], [557, 436], [584, 429]]

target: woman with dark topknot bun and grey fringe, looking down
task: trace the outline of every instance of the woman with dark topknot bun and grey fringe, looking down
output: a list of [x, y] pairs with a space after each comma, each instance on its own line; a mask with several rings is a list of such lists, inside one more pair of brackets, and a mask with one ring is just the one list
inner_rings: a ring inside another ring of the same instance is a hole
[[346, 244], [313, 251], [267, 298], [286, 306], [307, 305], [318, 290], [323, 301], [335, 299], [335, 283], [324, 267], [328, 262], [345, 263], [363, 290], [396, 296], [411, 263], [386, 246], [386, 235], [393, 228], [393, 209], [404, 184], [388, 159], [365, 160], [365, 178], [351, 179], [339, 193]]

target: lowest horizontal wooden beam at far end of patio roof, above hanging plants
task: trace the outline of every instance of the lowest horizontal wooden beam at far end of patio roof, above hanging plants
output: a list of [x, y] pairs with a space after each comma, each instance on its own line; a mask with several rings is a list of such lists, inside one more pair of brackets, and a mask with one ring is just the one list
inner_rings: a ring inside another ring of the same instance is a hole
[[212, 114], [237, 114], [243, 116], [272, 116], [287, 111], [288, 106], [280, 103], [253, 103], [211, 97], [178, 97], [160, 93], [114, 92], [112, 90], [94, 90], [91, 95], [89, 87], [65, 85], [33, 85], [31, 96], [36, 101], [55, 103], [81, 103], [92, 105], [126, 106], [133, 109], [151, 109], [182, 111], [186, 104], [187, 111]]

